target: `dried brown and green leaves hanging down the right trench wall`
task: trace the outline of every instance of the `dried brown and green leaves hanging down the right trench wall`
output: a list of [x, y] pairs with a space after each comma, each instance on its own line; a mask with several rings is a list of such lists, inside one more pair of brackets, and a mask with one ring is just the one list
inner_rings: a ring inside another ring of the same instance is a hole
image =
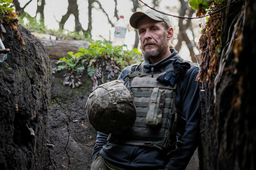
[[[206, 11], [215, 11], [225, 6], [224, 0], [190, 0], [189, 4], [193, 9], [198, 9], [197, 16], [205, 15]], [[222, 54], [222, 20], [223, 12], [213, 13], [207, 17], [205, 27], [201, 30], [199, 39], [199, 49], [201, 50], [199, 59], [200, 68], [197, 75], [197, 81], [202, 82], [206, 78], [208, 86], [213, 84], [215, 75]]]

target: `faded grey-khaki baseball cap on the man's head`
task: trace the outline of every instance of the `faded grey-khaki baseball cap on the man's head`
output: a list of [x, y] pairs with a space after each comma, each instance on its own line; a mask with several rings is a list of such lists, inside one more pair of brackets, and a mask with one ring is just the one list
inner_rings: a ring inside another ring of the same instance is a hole
[[138, 29], [138, 21], [143, 16], [148, 16], [156, 21], [164, 21], [169, 27], [172, 27], [171, 20], [168, 15], [157, 12], [153, 9], [149, 9], [145, 12], [134, 12], [130, 17], [130, 24], [133, 28]]

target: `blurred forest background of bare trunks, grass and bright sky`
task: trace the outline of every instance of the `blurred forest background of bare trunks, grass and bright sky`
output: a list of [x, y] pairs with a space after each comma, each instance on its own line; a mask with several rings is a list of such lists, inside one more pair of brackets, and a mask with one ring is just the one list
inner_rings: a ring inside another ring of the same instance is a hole
[[[133, 12], [149, 9], [142, 2], [173, 16], [196, 15], [189, 0], [13, 0], [15, 10], [19, 12], [19, 23], [32, 33], [50, 34], [57, 39], [111, 42], [114, 24], [120, 15], [124, 15], [128, 24], [125, 39], [128, 50], [140, 46], [138, 33], [129, 25], [129, 18]], [[173, 16], [170, 19], [174, 37], [170, 43], [184, 59], [197, 62], [200, 27], [204, 27], [206, 19]]]

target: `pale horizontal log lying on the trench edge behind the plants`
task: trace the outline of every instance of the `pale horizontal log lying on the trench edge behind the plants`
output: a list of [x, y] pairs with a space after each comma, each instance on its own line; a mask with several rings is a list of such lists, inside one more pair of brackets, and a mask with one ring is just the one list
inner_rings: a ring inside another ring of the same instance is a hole
[[75, 39], [52, 40], [39, 38], [39, 40], [43, 43], [45, 50], [49, 54], [49, 58], [54, 60], [59, 60], [67, 56], [69, 51], [76, 53], [79, 52], [79, 48], [89, 49], [91, 45], [89, 41]]

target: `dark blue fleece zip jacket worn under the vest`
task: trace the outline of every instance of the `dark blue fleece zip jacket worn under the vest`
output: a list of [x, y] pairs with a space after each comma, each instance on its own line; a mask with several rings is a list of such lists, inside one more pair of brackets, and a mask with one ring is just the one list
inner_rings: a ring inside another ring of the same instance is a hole
[[[154, 66], [154, 73], [160, 73], [171, 67], [175, 58], [183, 60], [177, 51], [170, 48], [172, 54], [160, 62], [150, 64], [144, 58], [144, 72], [151, 73]], [[134, 71], [134, 67], [132, 71]], [[101, 154], [106, 160], [123, 167], [124, 169], [165, 169], [184, 170], [198, 145], [199, 140], [199, 83], [196, 81], [198, 66], [192, 66], [186, 71], [177, 87], [175, 106], [186, 118], [185, 132], [181, 138], [179, 150], [167, 154], [155, 148], [140, 146], [124, 146], [107, 142], [108, 134], [98, 132], [96, 144], [93, 149], [93, 158]], [[125, 68], [118, 79], [122, 79], [128, 73]], [[128, 78], [126, 79], [126, 81]]]

